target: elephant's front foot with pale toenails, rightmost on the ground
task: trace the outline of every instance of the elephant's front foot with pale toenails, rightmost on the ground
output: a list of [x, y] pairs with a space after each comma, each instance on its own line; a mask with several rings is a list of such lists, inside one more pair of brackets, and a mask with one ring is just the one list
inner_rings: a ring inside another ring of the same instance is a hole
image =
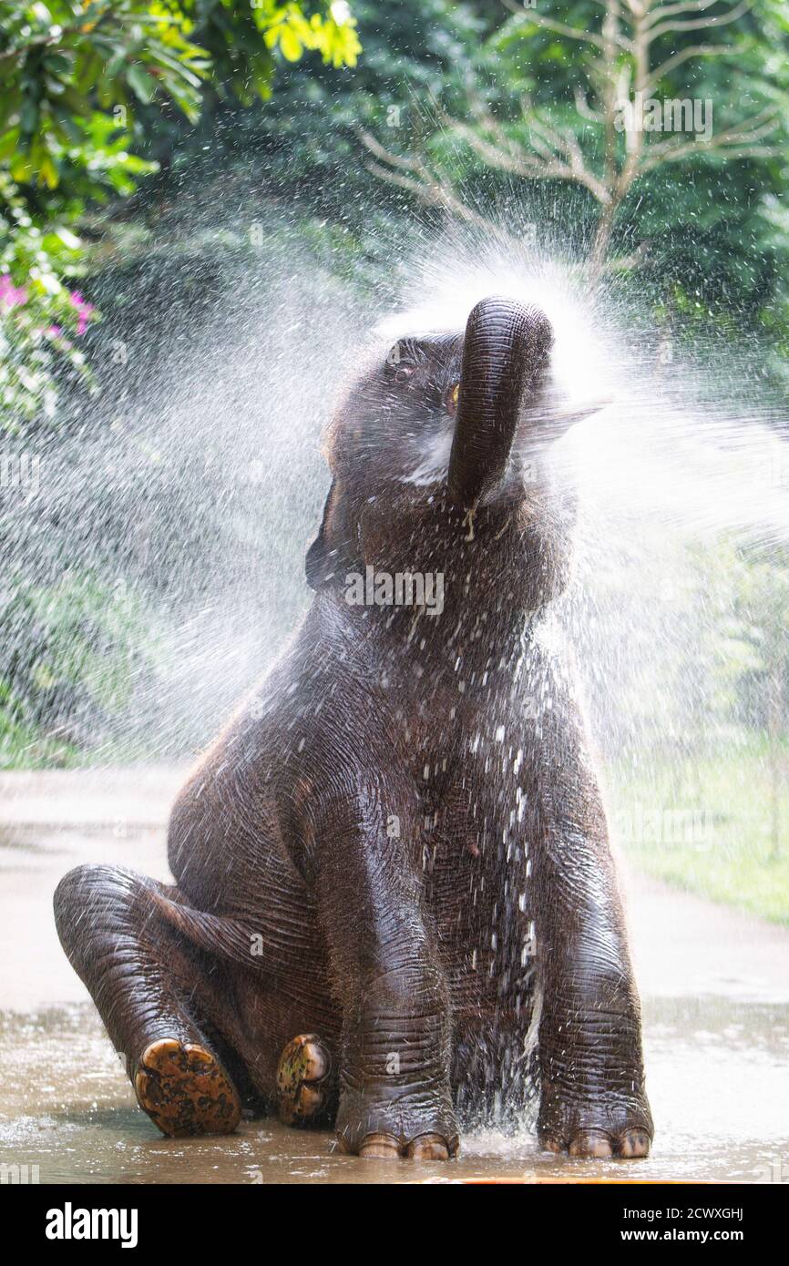
[[650, 1155], [652, 1118], [643, 1095], [600, 1095], [599, 1101], [579, 1103], [543, 1090], [537, 1132], [546, 1152], [636, 1160]]

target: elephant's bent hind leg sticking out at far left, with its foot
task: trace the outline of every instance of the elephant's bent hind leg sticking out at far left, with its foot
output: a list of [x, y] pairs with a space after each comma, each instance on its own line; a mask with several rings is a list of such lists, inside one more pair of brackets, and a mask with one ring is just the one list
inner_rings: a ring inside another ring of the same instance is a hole
[[162, 899], [179, 896], [134, 871], [80, 866], [54, 894], [57, 931], [162, 1133], [230, 1133], [239, 1095], [201, 1027], [218, 968], [163, 917]]

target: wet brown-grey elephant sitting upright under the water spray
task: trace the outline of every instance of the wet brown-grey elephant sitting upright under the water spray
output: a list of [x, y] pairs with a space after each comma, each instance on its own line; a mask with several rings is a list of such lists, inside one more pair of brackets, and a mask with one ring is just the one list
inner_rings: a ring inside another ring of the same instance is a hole
[[[545, 313], [375, 347], [327, 433], [291, 643], [201, 758], [175, 884], [60, 882], [63, 948], [167, 1136], [242, 1112], [342, 1152], [448, 1161], [536, 1114], [541, 1146], [642, 1157], [640, 1000], [556, 599], [579, 419]], [[441, 577], [441, 581], [439, 579]], [[441, 600], [439, 600], [441, 599]]]

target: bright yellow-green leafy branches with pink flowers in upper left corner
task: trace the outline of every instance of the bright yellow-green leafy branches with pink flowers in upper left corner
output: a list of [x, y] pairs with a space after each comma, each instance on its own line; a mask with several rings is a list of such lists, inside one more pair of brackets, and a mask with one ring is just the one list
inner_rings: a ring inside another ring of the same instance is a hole
[[0, 427], [52, 422], [63, 372], [92, 382], [75, 230], [156, 170], [134, 153], [146, 130], [172, 110], [194, 125], [206, 92], [266, 99], [276, 56], [312, 51], [356, 63], [342, 0], [0, 0]]

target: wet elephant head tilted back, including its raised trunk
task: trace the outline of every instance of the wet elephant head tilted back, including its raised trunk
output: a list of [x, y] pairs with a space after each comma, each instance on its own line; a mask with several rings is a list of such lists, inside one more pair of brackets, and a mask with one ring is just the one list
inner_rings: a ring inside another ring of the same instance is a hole
[[329, 427], [314, 589], [369, 566], [439, 571], [456, 598], [499, 586], [514, 609], [564, 587], [575, 500], [545, 456], [580, 414], [557, 408], [551, 346], [538, 308], [494, 295], [465, 330], [379, 352]]

